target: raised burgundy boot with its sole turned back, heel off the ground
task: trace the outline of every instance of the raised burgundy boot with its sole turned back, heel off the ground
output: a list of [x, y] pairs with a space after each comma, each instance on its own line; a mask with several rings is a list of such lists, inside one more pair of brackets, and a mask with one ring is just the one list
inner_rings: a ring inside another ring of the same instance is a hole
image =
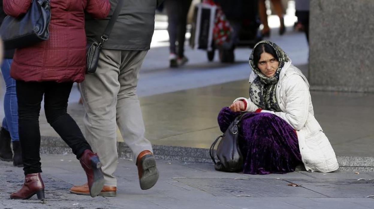
[[83, 169], [85, 169], [91, 197], [98, 196], [104, 187], [104, 175], [101, 172], [99, 157], [87, 149], [83, 152], [79, 161]]

